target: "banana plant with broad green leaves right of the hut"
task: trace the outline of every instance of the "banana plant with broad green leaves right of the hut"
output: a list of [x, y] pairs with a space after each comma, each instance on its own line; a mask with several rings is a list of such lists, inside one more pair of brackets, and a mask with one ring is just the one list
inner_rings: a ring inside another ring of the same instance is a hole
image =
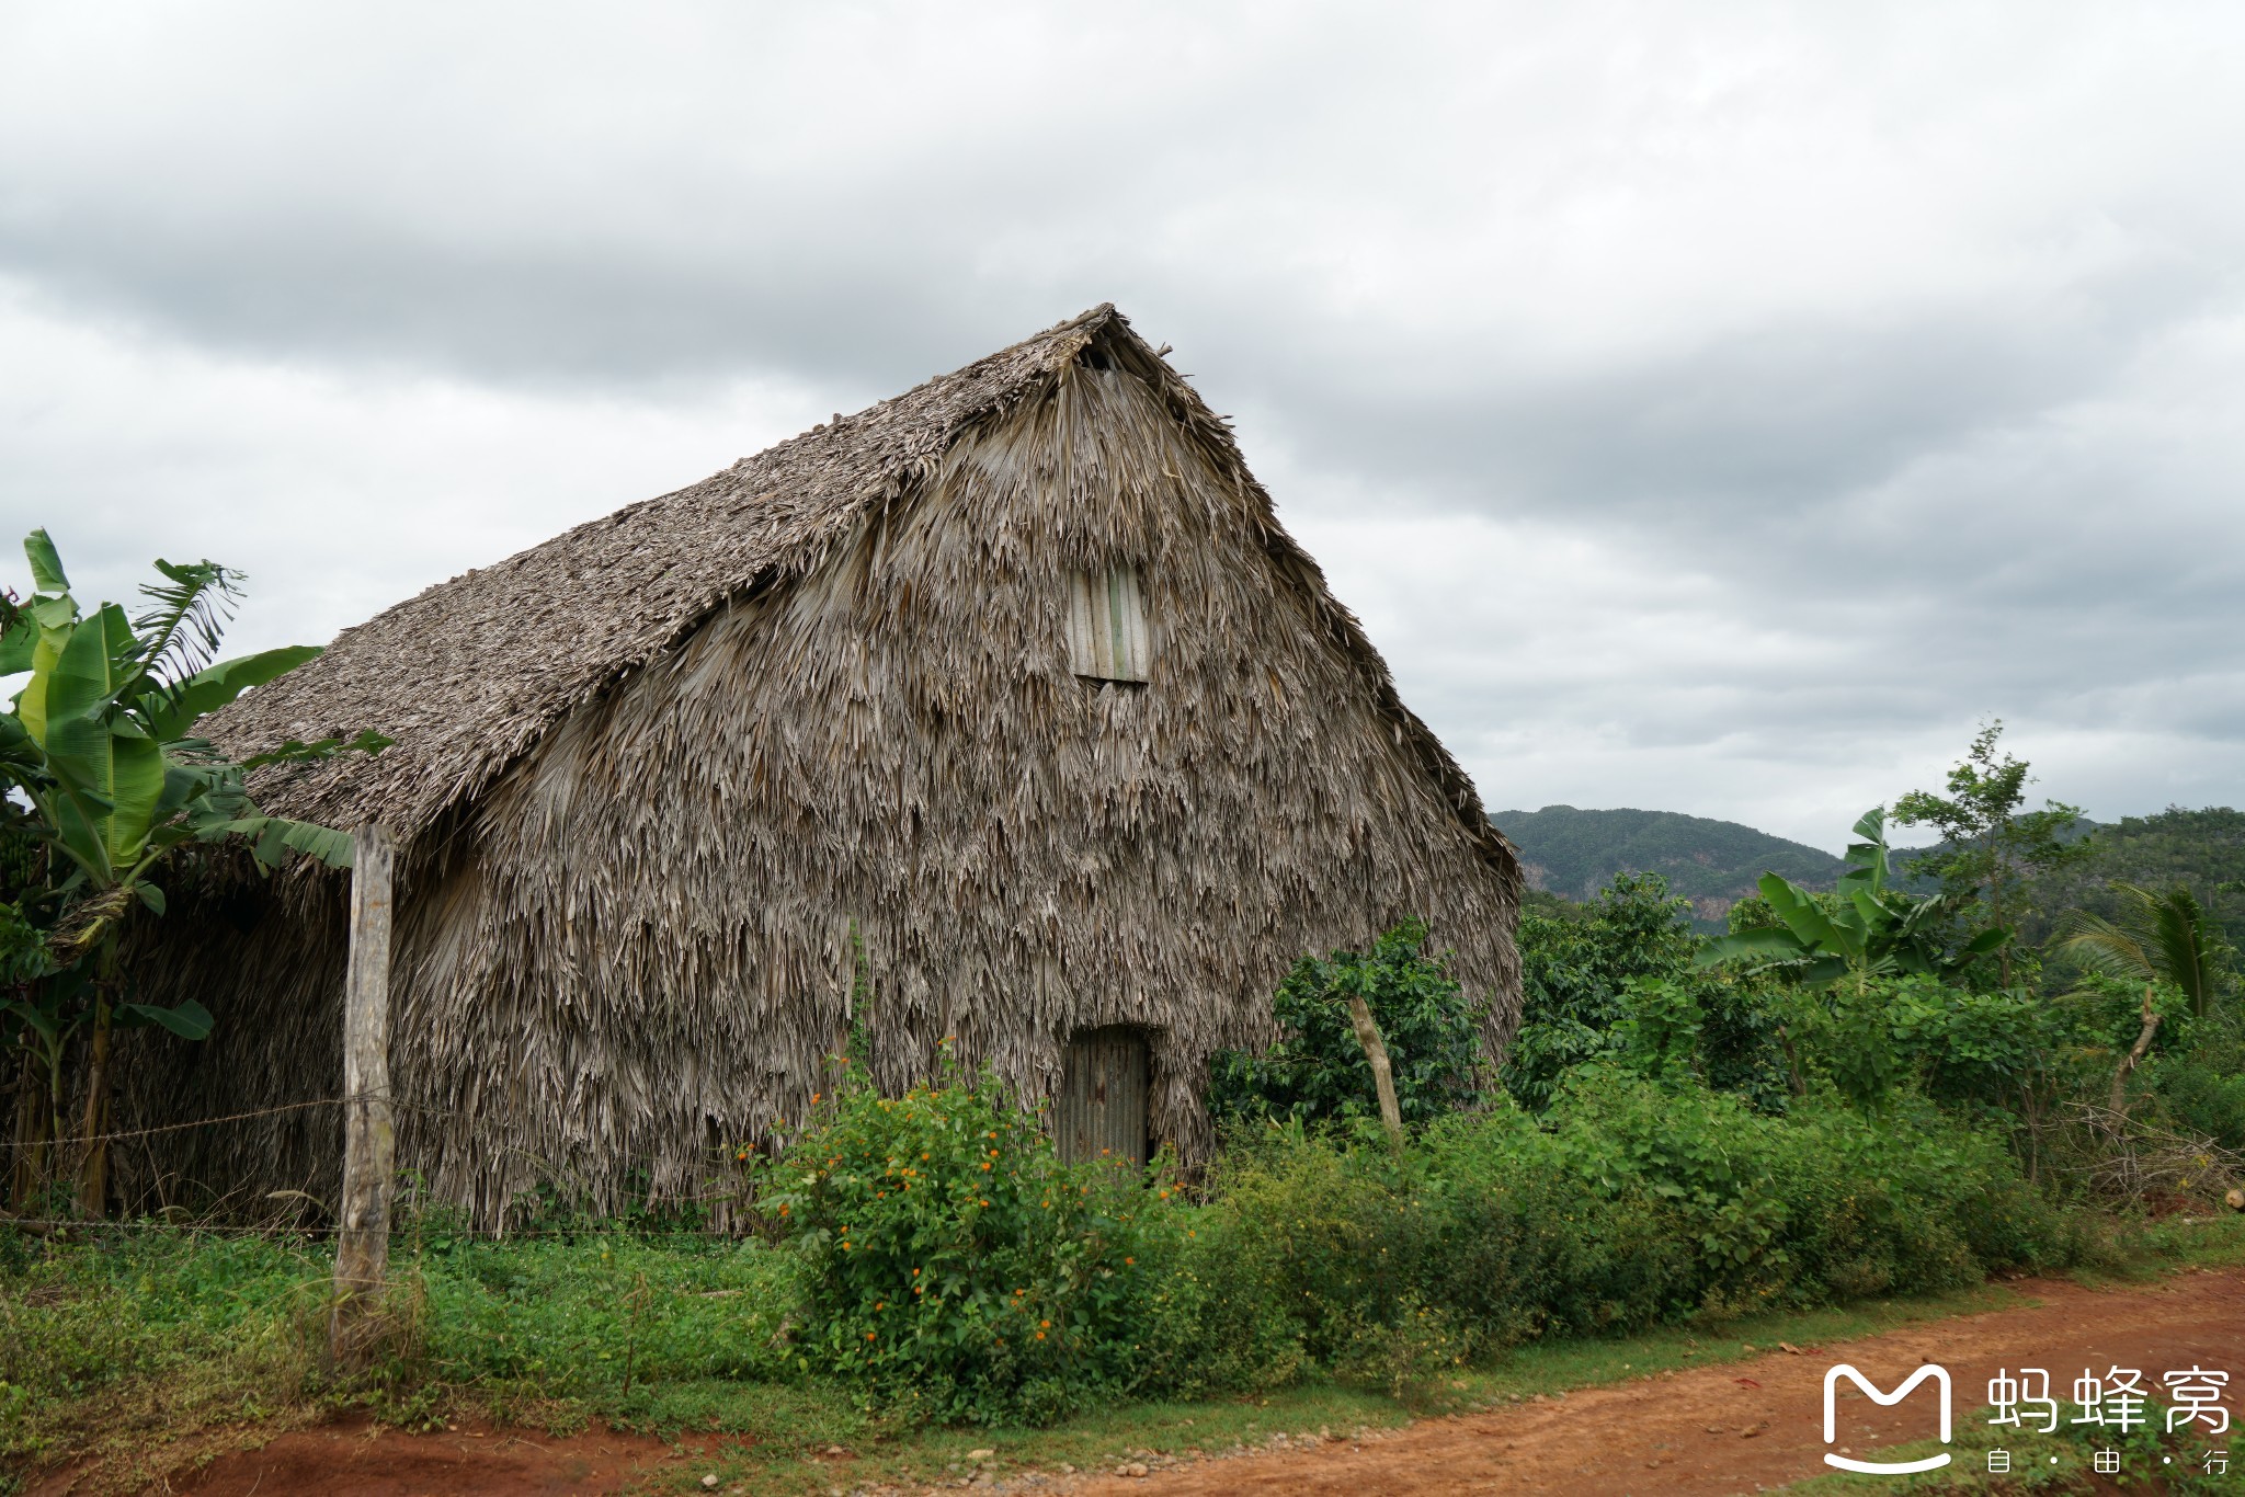
[[2009, 929], [1996, 927], [1949, 952], [1942, 931], [1958, 913], [1958, 902], [1886, 887], [1893, 869], [1884, 806], [1866, 810], [1854, 824], [1845, 864], [1830, 902], [1765, 873], [1762, 898], [1780, 925], [1717, 936], [1699, 949], [1699, 965], [1744, 961], [1751, 963], [1749, 974], [1767, 972], [1803, 988], [1830, 988], [1852, 974], [1861, 988], [1875, 976], [1955, 979], [2012, 940]]

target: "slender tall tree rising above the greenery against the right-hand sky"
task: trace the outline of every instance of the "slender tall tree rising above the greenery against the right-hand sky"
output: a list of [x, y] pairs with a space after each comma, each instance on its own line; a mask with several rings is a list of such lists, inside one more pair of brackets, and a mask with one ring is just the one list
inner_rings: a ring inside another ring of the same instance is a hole
[[[2081, 821], [2079, 806], [2027, 803], [2027, 761], [1998, 754], [2003, 718], [1980, 725], [1964, 759], [1949, 770], [1949, 795], [1910, 790], [1895, 801], [1895, 821], [1931, 826], [1942, 842], [1910, 862], [1913, 873], [1942, 882], [1944, 896], [1973, 898], [1985, 918], [1978, 925], [2016, 929], [2027, 904], [2027, 880], [2088, 855], [2086, 839], [2068, 839]], [[1996, 947], [2000, 981], [2012, 985], [2012, 945]]]

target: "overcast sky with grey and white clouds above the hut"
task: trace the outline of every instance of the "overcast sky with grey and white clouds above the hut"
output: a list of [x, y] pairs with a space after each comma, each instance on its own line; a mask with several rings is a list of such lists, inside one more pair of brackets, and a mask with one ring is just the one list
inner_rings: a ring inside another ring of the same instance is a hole
[[2241, 146], [2236, 4], [4, 7], [0, 521], [321, 642], [1114, 301], [1491, 808], [2234, 806]]

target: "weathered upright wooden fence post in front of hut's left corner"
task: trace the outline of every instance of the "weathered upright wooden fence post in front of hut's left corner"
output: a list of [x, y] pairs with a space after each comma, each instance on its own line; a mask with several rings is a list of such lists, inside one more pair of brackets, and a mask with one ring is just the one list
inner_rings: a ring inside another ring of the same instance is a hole
[[379, 1342], [391, 1257], [391, 835], [361, 826], [350, 851], [350, 970], [343, 976], [343, 1221], [335, 1241], [328, 1353], [364, 1367]]

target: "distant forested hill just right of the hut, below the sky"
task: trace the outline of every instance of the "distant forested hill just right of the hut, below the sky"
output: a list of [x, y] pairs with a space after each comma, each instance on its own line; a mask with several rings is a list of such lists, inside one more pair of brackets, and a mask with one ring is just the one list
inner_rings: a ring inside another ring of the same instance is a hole
[[1616, 873], [1659, 873], [1706, 925], [1720, 925], [1733, 902], [1756, 893], [1762, 873], [1830, 889], [1843, 866], [1821, 848], [1675, 810], [1545, 806], [1497, 810], [1488, 819], [1520, 848], [1536, 889], [1587, 900]]

